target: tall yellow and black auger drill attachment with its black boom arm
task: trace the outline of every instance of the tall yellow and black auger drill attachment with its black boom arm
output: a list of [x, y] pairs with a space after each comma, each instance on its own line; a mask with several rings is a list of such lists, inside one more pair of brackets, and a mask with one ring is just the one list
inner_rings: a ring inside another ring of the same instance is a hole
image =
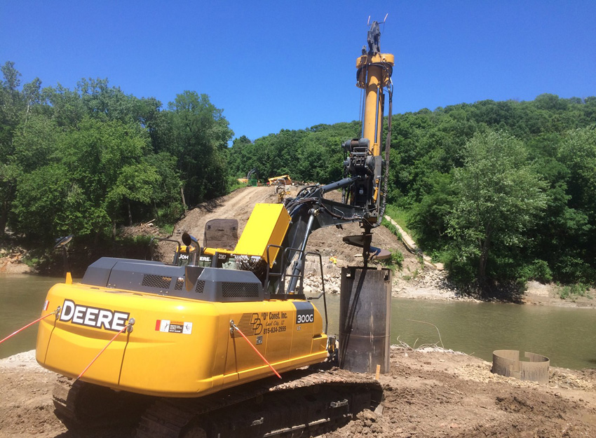
[[[363, 262], [366, 267], [370, 256], [377, 259], [389, 254], [379, 248], [371, 247], [372, 228], [381, 224], [384, 215], [389, 166], [389, 147], [391, 144], [391, 102], [393, 95], [394, 57], [389, 53], [379, 52], [379, 22], [374, 21], [368, 32], [369, 50], [363, 49], [363, 55], [356, 60], [358, 88], [365, 93], [362, 108], [360, 138], [348, 140], [342, 144], [344, 160], [344, 179], [324, 186], [309, 186], [300, 191], [296, 198], [285, 201], [285, 207], [292, 218], [292, 232], [288, 233], [286, 247], [298, 248], [302, 254], [306, 248], [309, 234], [324, 226], [341, 226], [360, 222], [363, 233], [344, 238], [344, 242], [363, 248]], [[388, 132], [385, 144], [385, 159], [381, 158], [381, 135], [383, 132], [383, 114], [385, 89], [389, 97]], [[325, 193], [342, 189], [342, 202], [337, 203], [324, 198]], [[300, 224], [297, 224], [299, 222]], [[294, 262], [292, 274], [297, 275], [302, 269], [302, 260]], [[295, 282], [294, 282], [295, 283]], [[290, 283], [291, 293], [295, 284]]]

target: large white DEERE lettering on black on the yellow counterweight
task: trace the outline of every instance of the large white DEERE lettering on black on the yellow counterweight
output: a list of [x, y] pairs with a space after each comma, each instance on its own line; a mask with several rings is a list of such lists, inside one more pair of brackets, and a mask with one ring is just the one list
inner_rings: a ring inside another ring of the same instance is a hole
[[81, 306], [69, 299], [65, 299], [60, 310], [60, 321], [111, 331], [120, 331], [126, 327], [129, 316], [128, 312]]

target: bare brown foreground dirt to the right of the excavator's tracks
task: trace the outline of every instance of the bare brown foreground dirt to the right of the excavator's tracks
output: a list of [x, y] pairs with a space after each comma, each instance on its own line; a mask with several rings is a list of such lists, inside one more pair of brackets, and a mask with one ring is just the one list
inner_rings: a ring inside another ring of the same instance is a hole
[[381, 383], [382, 412], [361, 413], [324, 436], [588, 437], [596, 426], [593, 390], [495, 376], [490, 364], [466, 355], [394, 348]]

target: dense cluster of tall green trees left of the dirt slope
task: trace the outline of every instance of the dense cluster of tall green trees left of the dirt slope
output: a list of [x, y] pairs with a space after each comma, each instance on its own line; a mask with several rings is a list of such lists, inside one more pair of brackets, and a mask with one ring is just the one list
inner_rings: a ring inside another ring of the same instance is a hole
[[42, 88], [21, 86], [13, 62], [1, 71], [0, 233], [109, 239], [226, 193], [233, 132], [208, 95], [184, 91], [164, 108], [107, 79]]

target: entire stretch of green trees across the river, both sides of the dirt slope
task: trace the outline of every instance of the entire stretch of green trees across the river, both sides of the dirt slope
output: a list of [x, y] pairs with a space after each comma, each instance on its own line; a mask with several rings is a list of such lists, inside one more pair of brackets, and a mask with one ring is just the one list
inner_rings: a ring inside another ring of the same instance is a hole
[[[340, 145], [360, 131], [315, 125], [228, 147], [233, 132], [208, 95], [184, 91], [164, 107], [107, 79], [41, 88], [21, 85], [12, 62], [1, 71], [0, 232], [45, 242], [173, 224], [254, 167], [262, 179], [337, 181]], [[388, 203], [454, 280], [596, 282], [596, 97], [485, 100], [392, 125]]]

